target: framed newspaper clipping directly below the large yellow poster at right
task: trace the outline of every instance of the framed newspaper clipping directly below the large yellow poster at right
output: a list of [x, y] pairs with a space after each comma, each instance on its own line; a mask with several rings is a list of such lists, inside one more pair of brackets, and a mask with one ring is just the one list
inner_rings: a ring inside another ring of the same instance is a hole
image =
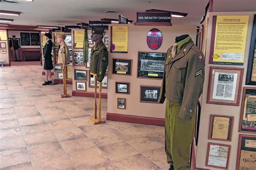
[[244, 68], [210, 67], [207, 103], [239, 106]]

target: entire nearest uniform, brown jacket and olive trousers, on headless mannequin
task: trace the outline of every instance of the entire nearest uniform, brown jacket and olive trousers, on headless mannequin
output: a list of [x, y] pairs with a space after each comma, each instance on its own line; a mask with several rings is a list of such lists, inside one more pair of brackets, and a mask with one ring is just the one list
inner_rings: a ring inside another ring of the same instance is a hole
[[165, 153], [170, 169], [190, 169], [197, 102], [203, 90], [205, 57], [188, 35], [167, 50], [159, 102], [165, 109]]

